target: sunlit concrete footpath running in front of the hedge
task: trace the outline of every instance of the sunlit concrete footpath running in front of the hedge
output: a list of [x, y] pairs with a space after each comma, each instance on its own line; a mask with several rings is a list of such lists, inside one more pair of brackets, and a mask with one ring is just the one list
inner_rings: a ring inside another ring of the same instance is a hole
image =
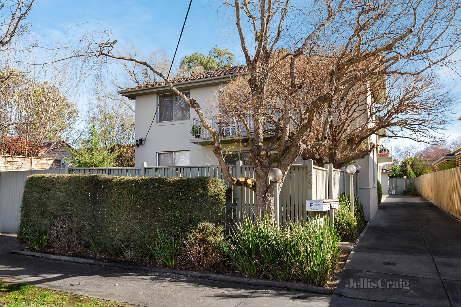
[[0, 278], [8, 282], [141, 306], [409, 306], [282, 289], [251, 287], [172, 274], [92, 266], [11, 254], [14, 235], [0, 235]]

